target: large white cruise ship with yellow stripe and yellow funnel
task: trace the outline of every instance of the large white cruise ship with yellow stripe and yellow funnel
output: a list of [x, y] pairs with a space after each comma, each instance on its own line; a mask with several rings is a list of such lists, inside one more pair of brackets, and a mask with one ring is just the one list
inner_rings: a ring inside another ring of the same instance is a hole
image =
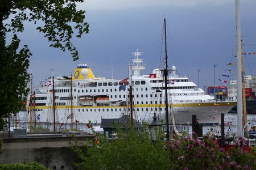
[[[72, 76], [49, 78], [40, 84], [35, 94], [31, 93], [31, 97], [28, 95], [26, 114], [30, 115], [31, 112], [31, 119], [38, 122], [53, 122], [54, 102], [55, 121], [59, 124], [71, 124], [71, 107], [73, 122], [101, 124], [102, 118], [119, 118], [130, 114], [131, 84], [134, 119], [150, 124], [156, 113], [159, 121], [165, 124], [163, 70], [155, 69], [150, 74], [141, 75], [145, 69], [141, 58], [143, 53], [136, 50], [132, 54], [133, 64], [129, 67], [131, 78], [96, 78], [88, 65], [79, 64]], [[199, 124], [218, 124], [221, 113], [228, 113], [236, 105], [235, 101], [217, 101], [205, 95], [186, 76], [179, 77], [176, 66], [172, 66], [168, 74], [167, 90], [168, 114], [174, 114], [177, 125], [191, 124], [193, 114], [197, 116]], [[172, 122], [171, 116], [169, 118], [169, 122]]]

